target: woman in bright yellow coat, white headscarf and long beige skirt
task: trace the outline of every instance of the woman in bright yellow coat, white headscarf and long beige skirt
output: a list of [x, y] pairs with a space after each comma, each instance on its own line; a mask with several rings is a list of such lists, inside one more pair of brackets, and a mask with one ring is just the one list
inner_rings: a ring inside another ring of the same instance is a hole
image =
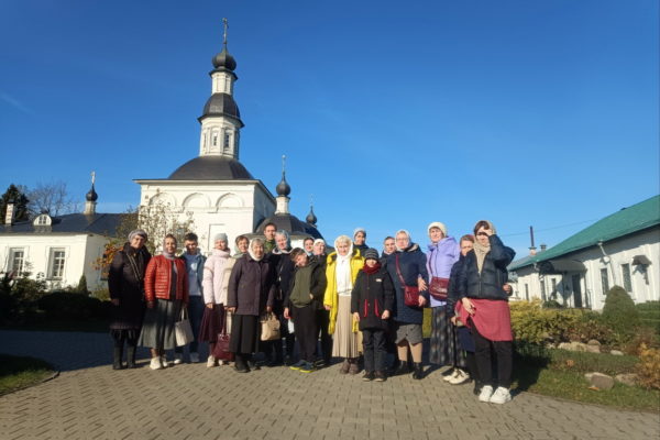
[[364, 257], [360, 251], [353, 250], [353, 241], [348, 235], [334, 240], [336, 251], [328, 255], [326, 278], [328, 286], [323, 297], [326, 310], [330, 310], [330, 327], [332, 334], [332, 356], [343, 358], [341, 374], [358, 374], [359, 345], [358, 321], [351, 314], [351, 292], [358, 273], [364, 266]]

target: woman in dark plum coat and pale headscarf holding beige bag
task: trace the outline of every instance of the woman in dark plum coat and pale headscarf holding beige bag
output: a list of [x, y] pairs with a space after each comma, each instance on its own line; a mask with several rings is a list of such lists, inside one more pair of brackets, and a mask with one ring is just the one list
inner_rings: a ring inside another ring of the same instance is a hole
[[233, 314], [229, 350], [235, 355], [239, 373], [250, 372], [248, 363], [261, 339], [258, 318], [273, 310], [275, 274], [264, 255], [264, 241], [253, 239], [248, 255], [237, 261], [229, 277], [227, 308]]

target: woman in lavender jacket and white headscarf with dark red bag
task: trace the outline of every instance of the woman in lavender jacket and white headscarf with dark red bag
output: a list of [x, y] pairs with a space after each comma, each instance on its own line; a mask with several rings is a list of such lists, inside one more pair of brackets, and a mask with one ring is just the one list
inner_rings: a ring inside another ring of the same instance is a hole
[[[459, 260], [460, 250], [454, 238], [447, 235], [444, 223], [435, 221], [427, 231], [431, 240], [427, 251], [428, 292], [431, 300], [429, 362], [442, 366], [453, 364], [457, 354], [454, 328], [447, 316], [447, 293], [451, 267]], [[455, 375], [458, 374], [457, 371]]]

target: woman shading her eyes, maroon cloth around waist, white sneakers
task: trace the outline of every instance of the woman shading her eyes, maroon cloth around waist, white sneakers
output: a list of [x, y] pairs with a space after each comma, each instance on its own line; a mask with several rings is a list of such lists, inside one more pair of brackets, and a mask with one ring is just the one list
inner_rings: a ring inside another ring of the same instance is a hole
[[[474, 250], [465, 255], [459, 274], [460, 319], [472, 330], [476, 367], [483, 387], [480, 402], [505, 404], [512, 399], [513, 334], [506, 267], [516, 253], [505, 246], [487, 220], [474, 226]], [[493, 392], [491, 358], [496, 353], [497, 389]]]

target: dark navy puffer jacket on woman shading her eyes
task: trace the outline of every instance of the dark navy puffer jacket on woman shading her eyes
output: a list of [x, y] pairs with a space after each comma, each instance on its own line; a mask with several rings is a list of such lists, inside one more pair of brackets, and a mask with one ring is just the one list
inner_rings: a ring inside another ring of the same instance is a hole
[[503, 286], [508, 280], [506, 266], [514, 260], [516, 252], [504, 245], [495, 234], [488, 238], [491, 252], [484, 258], [481, 274], [476, 265], [476, 254], [470, 251], [465, 255], [463, 267], [459, 274], [458, 298], [508, 299]]

